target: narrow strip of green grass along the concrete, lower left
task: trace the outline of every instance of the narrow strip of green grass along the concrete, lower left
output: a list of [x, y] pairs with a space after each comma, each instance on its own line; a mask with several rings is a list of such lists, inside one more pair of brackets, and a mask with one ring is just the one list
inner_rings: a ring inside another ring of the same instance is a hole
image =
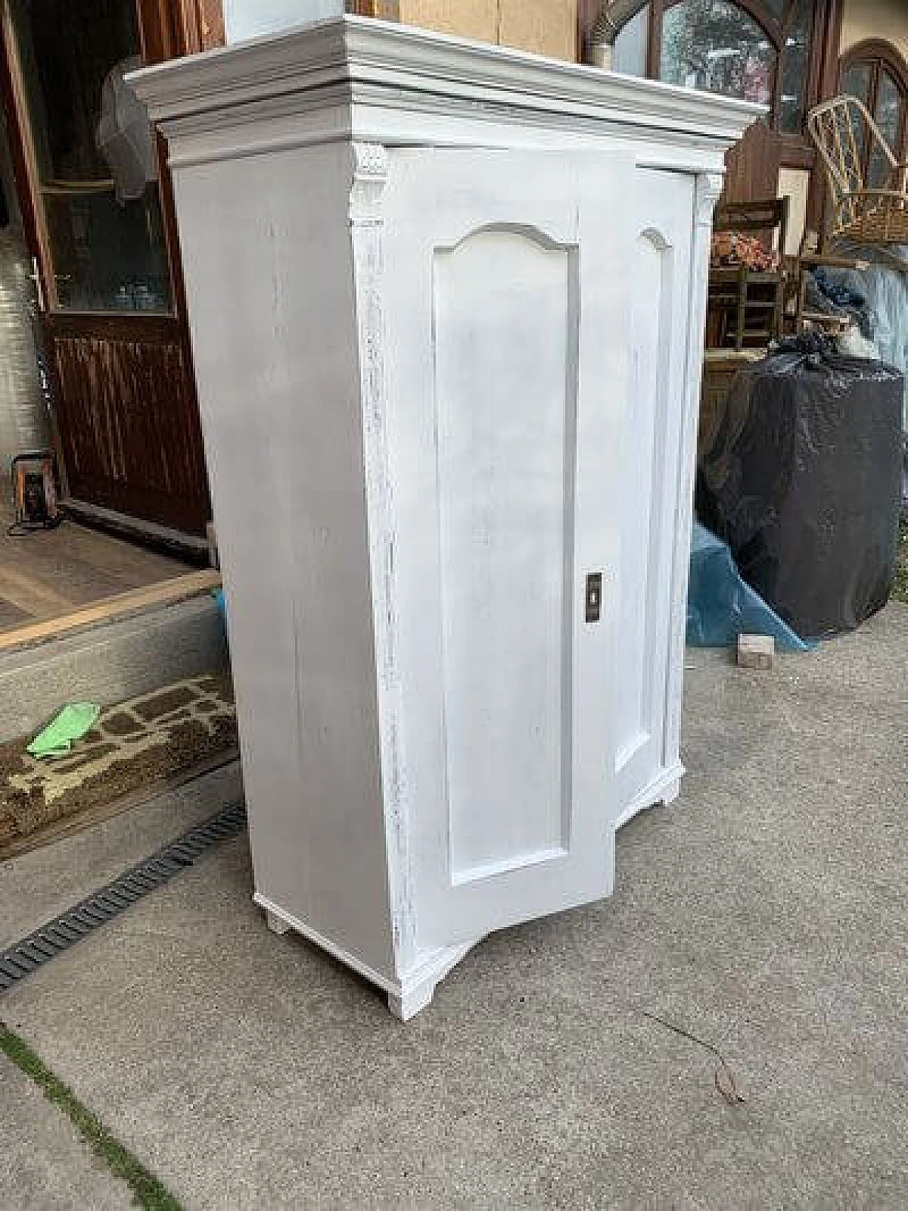
[[136, 1160], [119, 1140], [110, 1135], [100, 1119], [86, 1109], [75, 1094], [41, 1063], [28, 1044], [23, 1043], [18, 1034], [13, 1034], [2, 1022], [0, 1022], [0, 1051], [34, 1080], [48, 1102], [52, 1102], [70, 1119], [76, 1131], [110, 1172], [127, 1183], [136, 1206], [144, 1207], [146, 1211], [180, 1211], [180, 1204], [154, 1173], [150, 1173], [143, 1164]]

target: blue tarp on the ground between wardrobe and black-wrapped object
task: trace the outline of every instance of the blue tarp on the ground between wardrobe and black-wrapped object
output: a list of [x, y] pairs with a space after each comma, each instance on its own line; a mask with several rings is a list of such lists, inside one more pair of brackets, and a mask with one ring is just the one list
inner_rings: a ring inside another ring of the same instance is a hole
[[737, 643], [739, 635], [771, 635], [786, 652], [812, 648], [741, 579], [729, 547], [694, 522], [688, 643], [693, 648], [729, 648]]

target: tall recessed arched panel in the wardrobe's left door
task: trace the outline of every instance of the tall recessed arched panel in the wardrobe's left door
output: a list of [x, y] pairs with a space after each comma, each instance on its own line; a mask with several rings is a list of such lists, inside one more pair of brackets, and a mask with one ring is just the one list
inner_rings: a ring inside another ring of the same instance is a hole
[[[437, 203], [444, 186], [432, 161]], [[458, 177], [465, 167], [475, 171], [473, 156], [455, 166]], [[531, 178], [510, 184], [518, 197], [531, 190]], [[576, 243], [548, 243], [539, 228], [489, 230], [484, 201], [473, 200], [471, 234], [444, 247], [436, 214], [408, 199], [410, 220], [430, 220], [416, 256], [435, 288], [425, 299], [435, 379], [419, 395], [433, 389], [436, 407], [438, 673], [455, 885], [515, 855], [562, 855], [571, 794]], [[515, 293], [525, 308], [519, 327]], [[538, 742], [523, 764], [502, 762], [524, 736]], [[502, 810], [510, 800], [523, 804], [516, 821]]]

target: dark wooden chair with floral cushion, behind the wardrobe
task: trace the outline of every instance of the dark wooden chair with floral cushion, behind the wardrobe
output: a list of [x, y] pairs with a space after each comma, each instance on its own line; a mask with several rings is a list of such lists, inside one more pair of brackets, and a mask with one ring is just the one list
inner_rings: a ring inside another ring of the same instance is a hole
[[[788, 231], [788, 199], [755, 202], [722, 202], [716, 207], [713, 231], [758, 235], [766, 252], [778, 231], [780, 260]], [[786, 277], [776, 270], [729, 265], [709, 270], [708, 344], [713, 348], [763, 348], [782, 332]]]

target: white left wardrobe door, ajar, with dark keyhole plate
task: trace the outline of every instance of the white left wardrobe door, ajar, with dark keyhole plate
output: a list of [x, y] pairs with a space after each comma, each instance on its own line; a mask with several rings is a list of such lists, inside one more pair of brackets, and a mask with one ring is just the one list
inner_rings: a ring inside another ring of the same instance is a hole
[[396, 535], [419, 552], [397, 574], [418, 947], [611, 886], [602, 670], [633, 182], [614, 150], [547, 154], [545, 172], [538, 153], [392, 156], [385, 305], [407, 317], [386, 335]]

